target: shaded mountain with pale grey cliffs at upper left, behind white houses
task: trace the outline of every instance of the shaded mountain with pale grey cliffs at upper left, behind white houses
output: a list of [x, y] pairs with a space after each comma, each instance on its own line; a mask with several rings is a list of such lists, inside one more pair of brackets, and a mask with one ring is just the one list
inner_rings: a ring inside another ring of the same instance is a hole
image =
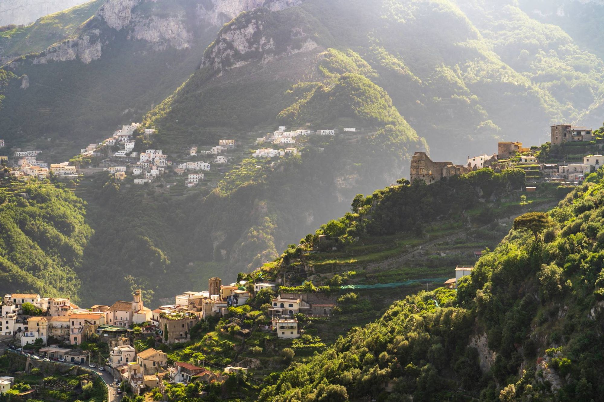
[[69, 159], [80, 141], [106, 138], [178, 88], [199, 66], [216, 24], [263, 4], [288, 2], [95, 1], [6, 31], [4, 56], [18, 57], [4, 68], [22, 78], [8, 86], [0, 112], [7, 146]]

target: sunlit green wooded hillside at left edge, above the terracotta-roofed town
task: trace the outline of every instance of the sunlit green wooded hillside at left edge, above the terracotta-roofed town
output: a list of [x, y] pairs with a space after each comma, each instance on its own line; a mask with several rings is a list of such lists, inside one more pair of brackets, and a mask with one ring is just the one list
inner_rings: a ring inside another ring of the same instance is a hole
[[81, 199], [50, 183], [3, 179], [0, 228], [0, 292], [80, 300], [76, 271], [92, 235]]

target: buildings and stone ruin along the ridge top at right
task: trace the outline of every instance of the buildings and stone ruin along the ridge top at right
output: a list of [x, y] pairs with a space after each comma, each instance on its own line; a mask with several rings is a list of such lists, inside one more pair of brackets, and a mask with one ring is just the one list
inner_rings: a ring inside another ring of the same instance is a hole
[[[593, 130], [586, 127], [576, 127], [571, 124], [559, 124], [551, 126], [551, 144], [564, 144], [573, 141], [593, 141]], [[481, 168], [493, 168], [501, 170], [506, 167], [535, 168], [542, 173], [547, 181], [563, 182], [576, 185], [584, 180], [588, 174], [593, 173], [602, 166], [604, 156], [586, 155], [582, 163], [564, 164], [540, 164], [538, 159], [532, 155], [530, 148], [523, 147], [522, 142], [498, 142], [497, 153], [492, 155], [478, 155], [467, 157], [466, 165], [455, 165], [452, 162], [434, 162], [425, 152], [416, 152], [411, 159], [411, 181], [423, 180], [426, 183], [434, 183], [443, 177], [455, 174], [468, 173]], [[519, 160], [514, 158], [517, 155]], [[535, 187], [527, 187], [527, 191], [534, 191]]]

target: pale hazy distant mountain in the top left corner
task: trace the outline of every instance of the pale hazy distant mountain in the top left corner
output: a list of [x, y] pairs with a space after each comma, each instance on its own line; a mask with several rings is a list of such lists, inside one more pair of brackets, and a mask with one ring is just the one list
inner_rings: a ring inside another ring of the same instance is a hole
[[28, 25], [36, 19], [80, 5], [85, 0], [4, 0], [0, 4], [0, 27]]

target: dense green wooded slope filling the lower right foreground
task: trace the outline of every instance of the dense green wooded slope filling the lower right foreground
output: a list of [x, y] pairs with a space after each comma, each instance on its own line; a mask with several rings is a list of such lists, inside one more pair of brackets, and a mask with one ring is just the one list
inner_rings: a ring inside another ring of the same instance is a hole
[[603, 178], [600, 169], [547, 214], [521, 215], [457, 290], [395, 302], [293, 363], [259, 400], [597, 400]]

